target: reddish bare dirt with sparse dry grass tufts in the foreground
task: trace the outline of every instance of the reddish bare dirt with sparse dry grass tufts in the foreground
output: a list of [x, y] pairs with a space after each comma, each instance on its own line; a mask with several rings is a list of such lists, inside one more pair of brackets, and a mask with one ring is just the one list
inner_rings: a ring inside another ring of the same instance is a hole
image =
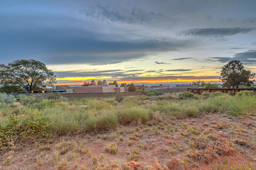
[[1, 154], [0, 169], [255, 169], [256, 114], [201, 113], [108, 133], [58, 137]]

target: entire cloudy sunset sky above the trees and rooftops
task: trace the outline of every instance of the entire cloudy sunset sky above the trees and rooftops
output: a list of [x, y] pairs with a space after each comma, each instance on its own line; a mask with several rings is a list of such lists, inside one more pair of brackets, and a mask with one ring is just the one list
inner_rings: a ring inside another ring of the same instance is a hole
[[2, 1], [0, 63], [44, 62], [58, 84], [219, 82], [256, 72], [255, 0]]

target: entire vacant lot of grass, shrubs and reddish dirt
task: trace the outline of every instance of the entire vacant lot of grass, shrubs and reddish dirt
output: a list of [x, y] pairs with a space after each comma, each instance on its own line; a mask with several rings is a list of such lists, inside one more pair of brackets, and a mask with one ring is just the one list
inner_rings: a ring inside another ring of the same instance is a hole
[[256, 166], [254, 96], [17, 98], [0, 108], [0, 169]]

